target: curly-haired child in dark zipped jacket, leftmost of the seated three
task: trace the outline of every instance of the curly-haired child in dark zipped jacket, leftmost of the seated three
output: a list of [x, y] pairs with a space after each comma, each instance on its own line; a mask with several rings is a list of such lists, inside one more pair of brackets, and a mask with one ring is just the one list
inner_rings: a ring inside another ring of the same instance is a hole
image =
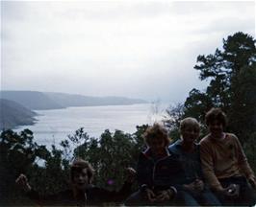
[[129, 196], [126, 205], [172, 205], [176, 189], [172, 186], [173, 176], [179, 165], [167, 149], [170, 139], [167, 131], [159, 124], [148, 127], [143, 134], [147, 149], [141, 151], [137, 173], [140, 190]]

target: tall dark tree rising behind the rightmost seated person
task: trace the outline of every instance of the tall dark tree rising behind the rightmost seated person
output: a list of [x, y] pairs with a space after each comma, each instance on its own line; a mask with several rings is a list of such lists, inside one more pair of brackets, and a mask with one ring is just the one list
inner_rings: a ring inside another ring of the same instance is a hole
[[204, 123], [205, 112], [221, 107], [229, 118], [229, 130], [242, 143], [256, 131], [256, 47], [255, 40], [242, 32], [223, 39], [223, 50], [198, 56], [194, 69], [201, 81], [209, 80], [205, 92], [192, 89], [185, 102], [184, 116]]

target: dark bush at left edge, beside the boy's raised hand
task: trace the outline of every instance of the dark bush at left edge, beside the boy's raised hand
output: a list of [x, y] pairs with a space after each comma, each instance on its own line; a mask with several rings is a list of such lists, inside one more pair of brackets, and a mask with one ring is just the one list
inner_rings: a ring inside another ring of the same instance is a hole
[[35, 149], [32, 131], [26, 129], [20, 134], [13, 130], [3, 131], [0, 135], [0, 201], [7, 204], [13, 197], [19, 197], [13, 189], [14, 180], [19, 173], [32, 167]]

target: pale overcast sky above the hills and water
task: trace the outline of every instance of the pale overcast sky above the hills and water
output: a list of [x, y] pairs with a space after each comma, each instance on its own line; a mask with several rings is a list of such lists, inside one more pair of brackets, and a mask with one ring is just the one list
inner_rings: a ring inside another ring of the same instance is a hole
[[183, 102], [254, 1], [1, 1], [1, 89]]

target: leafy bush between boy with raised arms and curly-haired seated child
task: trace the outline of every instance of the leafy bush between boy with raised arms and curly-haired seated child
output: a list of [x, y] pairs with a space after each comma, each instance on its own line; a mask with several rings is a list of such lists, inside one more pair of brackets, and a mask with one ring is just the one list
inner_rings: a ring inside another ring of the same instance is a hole
[[[71, 142], [82, 144], [74, 149], [74, 158], [81, 157], [90, 162], [96, 170], [94, 183], [111, 190], [118, 189], [123, 183], [125, 169], [135, 166], [143, 147], [142, 133], [147, 126], [137, 127], [134, 134], [106, 129], [98, 139], [90, 138], [80, 129], [68, 138]], [[79, 134], [79, 135], [78, 135]], [[74, 139], [76, 137], [76, 139]], [[86, 137], [86, 139], [85, 139]], [[115, 169], [115, 171], [113, 171]]]

